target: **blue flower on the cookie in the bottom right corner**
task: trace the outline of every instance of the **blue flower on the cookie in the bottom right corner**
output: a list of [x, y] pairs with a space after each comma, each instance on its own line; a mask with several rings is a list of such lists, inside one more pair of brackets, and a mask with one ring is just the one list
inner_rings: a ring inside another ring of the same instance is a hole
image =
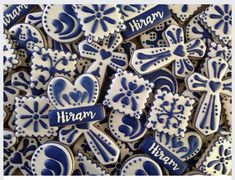
[[221, 144], [218, 150], [219, 154], [216, 156], [216, 159], [210, 161], [207, 167], [210, 168], [213, 166], [215, 171], [221, 171], [222, 175], [226, 175], [228, 169], [225, 164], [232, 160], [231, 148], [225, 149], [224, 145]]

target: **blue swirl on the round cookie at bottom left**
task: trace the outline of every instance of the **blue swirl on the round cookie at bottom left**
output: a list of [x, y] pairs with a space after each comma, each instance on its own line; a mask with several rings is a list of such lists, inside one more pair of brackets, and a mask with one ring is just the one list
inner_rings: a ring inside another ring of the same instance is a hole
[[48, 158], [44, 162], [44, 169], [42, 169], [42, 175], [68, 175], [69, 173], [69, 161], [67, 154], [56, 146], [48, 146], [44, 151]]

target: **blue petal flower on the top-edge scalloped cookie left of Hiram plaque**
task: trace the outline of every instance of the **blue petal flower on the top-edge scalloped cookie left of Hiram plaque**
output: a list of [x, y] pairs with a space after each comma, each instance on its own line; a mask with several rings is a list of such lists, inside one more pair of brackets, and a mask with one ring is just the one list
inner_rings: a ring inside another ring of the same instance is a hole
[[105, 32], [108, 31], [107, 23], [116, 24], [116, 20], [109, 17], [109, 14], [115, 12], [115, 7], [107, 8], [106, 5], [93, 4], [91, 7], [82, 6], [81, 10], [87, 13], [87, 17], [84, 18], [83, 22], [85, 24], [92, 23], [92, 33], [96, 32], [99, 24]]

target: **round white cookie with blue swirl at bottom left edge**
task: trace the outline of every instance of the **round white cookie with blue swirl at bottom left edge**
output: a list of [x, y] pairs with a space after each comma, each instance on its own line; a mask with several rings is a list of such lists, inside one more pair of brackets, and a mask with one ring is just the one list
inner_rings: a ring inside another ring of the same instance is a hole
[[71, 175], [74, 170], [74, 156], [70, 149], [57, 142], [39, 146], [31, 159], [33, 175]]

